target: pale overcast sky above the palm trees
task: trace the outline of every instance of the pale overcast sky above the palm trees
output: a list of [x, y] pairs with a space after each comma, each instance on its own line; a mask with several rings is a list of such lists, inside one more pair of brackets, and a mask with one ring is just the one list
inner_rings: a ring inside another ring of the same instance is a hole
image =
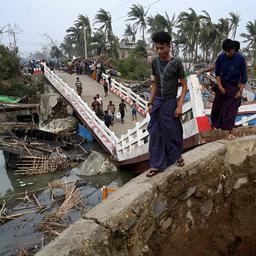
[[[132, 4], [137, 3], [146, 10], [149, 8], [148, 14], [164, 14], [167, 11], [170, 17], [190, 7], [197, 13], [206, 10], [213, 21], [227, 17], [230, 11], [238, 12], [241, 15], [238, 35], [245, 32], [248, 21], [256, 19], [255, 0], [0, 0], [0, 27], [7, 24], [19, 26], [17, 45], [20, 52], [26, 55], [46, 44], [45, 33], [60, 43], [66, 29], [73, 25], [79, 14], [87, 15], [93, 24], [100, 8], [111, 13], [114, 34], [121, 37], [127, 12]], [[9, 43], [7, 35], [0, 39], [2, 43]]]

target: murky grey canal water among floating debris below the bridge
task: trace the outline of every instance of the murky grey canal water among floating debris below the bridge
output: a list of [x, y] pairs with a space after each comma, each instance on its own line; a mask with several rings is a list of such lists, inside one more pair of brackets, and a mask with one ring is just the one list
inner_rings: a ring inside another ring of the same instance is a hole
[[[122, 170], [91, 177], [78, 177], [77, 173], [79, 173], [79, 167], [51, 174], [17, 176], [14, 174], [14, 170], [6, 169], [3, 152], [0, 151], [0, 206], [4, 199], [7, 208], [12, 210], [12, 214], [15, 214], [16, 209], [24, 207], [25, 191], [35, 191], [40, 204], [50, 205], [51, 196], [47, 188], [49, 182], [62, 180], [69, 183], [80, 179], [83, 185], [79, 187], [79, 195], [88, 210], [102, 201], [100, 192], [102, 186], [121, 187], [135, 177], [134, 174]], [[52, 213], [52, 211], [48, 213]], [[37, 251], [44, 246], [48, 241], [46, 241], [45, 235], [38, 230], [38, 224], [44, 217], [45, 214], [32, 212], [5, 224], [0, 222], [0, 255], [17, 255], [18, 251], [23, 248], [30, 250], [32, 248]], [[81, 218], [81, 212], [72, 209], [65, 215], [65, 218], [71, 224]], [[33, 255], [33, 253], [29, 255]]]

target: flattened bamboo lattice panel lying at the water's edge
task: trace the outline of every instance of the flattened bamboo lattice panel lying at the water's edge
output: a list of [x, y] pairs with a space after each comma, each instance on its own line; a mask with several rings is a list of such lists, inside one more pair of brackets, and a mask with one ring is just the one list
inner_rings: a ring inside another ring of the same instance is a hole
[[54, 157], [41, 156], [20, 156], [17, 161], [15, 174], [36, 175], [55, 172], [67, 160], [63, 154], [55, 154]]

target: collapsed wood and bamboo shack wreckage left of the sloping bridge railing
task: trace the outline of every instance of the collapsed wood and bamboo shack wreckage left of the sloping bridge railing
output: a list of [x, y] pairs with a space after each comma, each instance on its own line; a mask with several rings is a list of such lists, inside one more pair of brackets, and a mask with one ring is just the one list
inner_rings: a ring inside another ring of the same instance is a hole
[[53, 134], [37, 129], [9, 130], [0, 139], [6, 165], [19, 175], [51, 173], [74, 167], [84, 160], [78, 134]]

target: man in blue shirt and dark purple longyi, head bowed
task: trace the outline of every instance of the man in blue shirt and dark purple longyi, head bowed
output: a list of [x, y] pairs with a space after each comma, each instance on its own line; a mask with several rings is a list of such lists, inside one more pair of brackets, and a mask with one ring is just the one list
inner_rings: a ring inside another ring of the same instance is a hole
[[232, 129], [241, 104], [247, 69], [244, 57], [236, 53], [234, 42], [226, 39], [222, 43], [223, 53], [216, 60], [218, 91], [213, 101], [211, 120], [215, 129], [229, 130], [228, 139], [233, 139]]

